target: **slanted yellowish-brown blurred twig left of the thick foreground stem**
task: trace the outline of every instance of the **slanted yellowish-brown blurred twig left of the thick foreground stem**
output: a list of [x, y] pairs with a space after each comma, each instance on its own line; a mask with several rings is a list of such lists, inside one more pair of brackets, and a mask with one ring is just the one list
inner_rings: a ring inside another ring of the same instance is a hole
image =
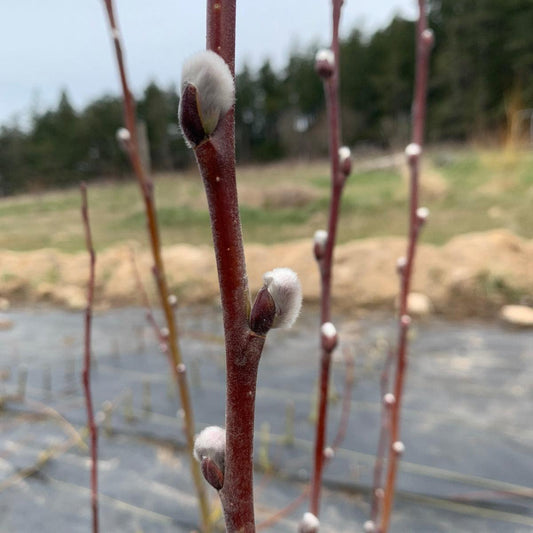
[[176, 324], [176, 317], [174, 315], [174, 307], [169, 299], [170, 295], [168, 290], [168, 283], [163, 264], [161, 240], [159, 236], [159, 227], [157, 223], [157, 213], [154, 201], [153, 183], [149, 176], [146, 174], [140, 156], [135, 102], [133, 99], [133, 95], [129, 89], [128, 79], [126, 76], [126, 67], [122, 52], [120, 33], [117, 27], [113, 9], [113, 0], [104, 0], [104, 3], [106, 7], [107, 17], [109, 20], [109, 26], [111, 29], [111, 35], [113, 37], [115, 55], [117, 59], [117, 66], [124, 98], [124, 120], [126, 128], [129, 132], [129, 139], [127, 140], [128, 155], [134, 173], [137, 177], [139, 187], [141, 189], [142, 198], [144, 201], [146, 223], [148, 227], [148, 237], [150, 241], [152, 257], [154, 260], [154, 279], [156, 282], [159, 299], [165, 317], [166, 327], [168, 330], [165, 349], [169, 358], [172, 375], [178, 387], [181, 406], [183, 412], [185, 413], [185, 437], [187, 440], [187, 450], [190, 458], [191, 475], [196, 488], [196, 495], [198, 497], [202, 530], [210, 531], [211, 524], [209, 518], [209, 502], [202, 481], [200, 467], [193, 458], [195, 427], [193, 410], [190, 400], [190, 392], [187, 383], [186, 373], [178, 371], [178, 366], [183, 365], [183, 361], [178, 345], [178, 329]]

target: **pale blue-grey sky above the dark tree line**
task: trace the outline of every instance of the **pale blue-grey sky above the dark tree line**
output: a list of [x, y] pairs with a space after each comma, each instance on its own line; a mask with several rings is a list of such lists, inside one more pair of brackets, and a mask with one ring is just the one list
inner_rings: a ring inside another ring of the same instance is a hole
[[[133, 92], [154, 80], [179, 84], [181, 64], [205, 48], [205, 0], [115, 0]], [[396, 14], [414, 19], [416, 0], [345, 0], [341, 36], [371, 33]], [[330, 40], [330, 0], [239, 0], [237, 71]], [[102, 0], [0, 0], [0, 125], [25, 125], [65, 89], [81, 109], [119, 81]]]

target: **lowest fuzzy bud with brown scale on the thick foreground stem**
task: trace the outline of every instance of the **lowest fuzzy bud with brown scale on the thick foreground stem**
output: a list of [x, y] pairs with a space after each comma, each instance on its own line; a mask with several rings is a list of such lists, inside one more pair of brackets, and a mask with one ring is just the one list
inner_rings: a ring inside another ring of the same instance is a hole
[[226, 430], [218, 426], [203, 429], [194, 441], [194, 457], [200, 462], [205, 480], [215, 489], [224, 485]]

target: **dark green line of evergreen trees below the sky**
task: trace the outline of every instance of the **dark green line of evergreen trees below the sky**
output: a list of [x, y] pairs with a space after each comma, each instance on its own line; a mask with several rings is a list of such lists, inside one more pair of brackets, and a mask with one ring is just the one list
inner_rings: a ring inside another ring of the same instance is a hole
[[[429, 88], [430, 142], [499, 140], [512, 118], [533, 108], [533, 4], [530, 0], [430, 0], [436, 44]], [[237, 157], [241, 162], [326, 153], [316, 46], [293, 52], [284, 69], [267, 60], [236, 79]], [[354, 29], [341, 43], [343, 138], [351, 146], [402, 146], [409, 131], [414, 23], [402, 18], [374, 34]], [[150, 83], [137, 100], [152, 168], [190, 164], [177, 126], [175, 87]], [[62, 93], [34, 113], [29, 129], [0, 128], [0, 194], [129, 172], [115, 134], [122, 103], [104, 96], [76, 111]]]

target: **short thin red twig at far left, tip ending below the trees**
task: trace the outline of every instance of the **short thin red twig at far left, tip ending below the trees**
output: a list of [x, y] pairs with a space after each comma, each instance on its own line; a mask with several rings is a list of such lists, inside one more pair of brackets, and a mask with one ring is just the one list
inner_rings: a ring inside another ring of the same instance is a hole
[[87, 427], [91, 439], [91, 509], [93, 533], [98, 533], [98, 429], [94, 422], [93, 402], [91, 396], [91, 326], [94, 302], [96, 254], [93, 247], [89, 209], [87, 204], [87, 185], [81, 184], [81, 216], [85, 229], [85, 243], [89, 253], [89, 281], [87, 283], [87, 306], [85, 308], [85, 338], [82, 382], [85, 391], [85, 408], [87, 410]]

